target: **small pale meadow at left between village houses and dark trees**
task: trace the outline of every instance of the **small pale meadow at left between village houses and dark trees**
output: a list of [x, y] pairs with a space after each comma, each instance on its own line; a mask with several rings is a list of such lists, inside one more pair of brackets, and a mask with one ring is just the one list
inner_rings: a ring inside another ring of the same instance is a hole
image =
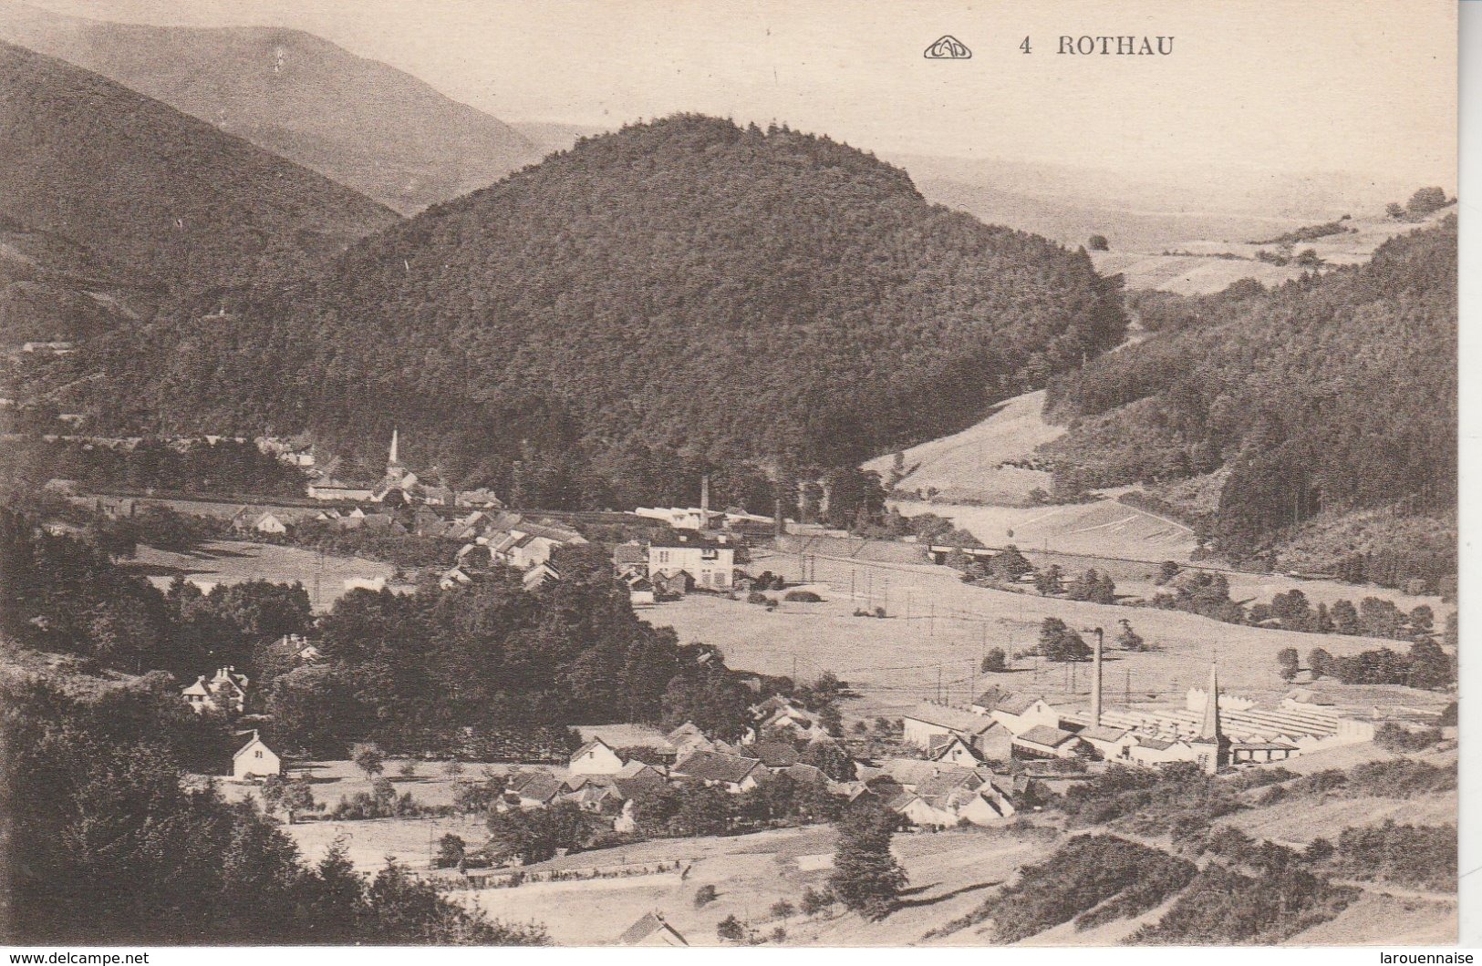
[[308, 590], [314, 610], [320, 612], [344, 596], [347, 579], [381, 578], [390, 582], [396, 572], [390, 563], [365, 557], [336, 557], [298, 547], [230, 539], [206, 541], [185, 554], [141, 544], [124, 566], [144, 573], [162, 590], [176, 576], [202, 588], [245, 581], [299, 582]]

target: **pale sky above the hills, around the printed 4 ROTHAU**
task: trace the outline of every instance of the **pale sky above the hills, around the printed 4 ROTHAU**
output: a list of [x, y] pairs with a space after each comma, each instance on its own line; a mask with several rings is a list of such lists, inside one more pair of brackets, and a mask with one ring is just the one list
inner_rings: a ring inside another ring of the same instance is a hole
[[[1451, 0], [31, 1], [296, 27], [505, 120], [702, 111], [882, 153], [1455, 184]], [[941, 34], [972, 58], [925, 59]], [[1172, 36], [1174, 53], [1057, 55], [1063, 34]]]

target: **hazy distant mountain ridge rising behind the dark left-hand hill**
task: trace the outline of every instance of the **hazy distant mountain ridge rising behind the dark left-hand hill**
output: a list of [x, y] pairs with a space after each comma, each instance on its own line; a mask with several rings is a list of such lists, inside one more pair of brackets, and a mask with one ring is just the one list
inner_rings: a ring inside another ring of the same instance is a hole
[[111, 24], [0, 0], [0, 40], [110, 77], [403, 215], [539, 157], [498, 119], [298, 30]]

